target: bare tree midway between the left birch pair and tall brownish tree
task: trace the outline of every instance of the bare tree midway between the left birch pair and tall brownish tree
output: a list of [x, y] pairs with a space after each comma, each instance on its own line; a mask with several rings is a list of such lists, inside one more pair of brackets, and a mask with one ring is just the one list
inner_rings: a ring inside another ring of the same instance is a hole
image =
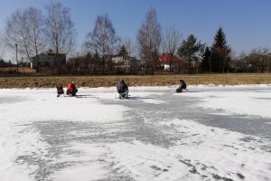
[[98, 56], [102, 59], [102, 73], [105, 73], [105, 55], [113, 52], [119, 40], [116, 30], [107, 14], [98, 15], [92, 32], [87, 34], [87, 39], [85, 43], [86, 47], [89, 48], [91, 52], [98, 52]]

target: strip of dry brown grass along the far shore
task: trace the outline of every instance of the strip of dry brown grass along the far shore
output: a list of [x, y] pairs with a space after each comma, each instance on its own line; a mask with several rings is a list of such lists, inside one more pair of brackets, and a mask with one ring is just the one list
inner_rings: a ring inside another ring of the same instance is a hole
[[0, 77], [0, 89], [9, 88], [54, 88], [66, 87], [74, 81], [77, 87], [115, 87], [117, 82], [125, 80], [129, 87], [161, 87], [179, 85], [180, 79], [187, 85], [245, 85], [271, 84], [271, 73], [227, 73], [194, 75], [145, 75], [145, 76], [40, 76], [40, 77]]

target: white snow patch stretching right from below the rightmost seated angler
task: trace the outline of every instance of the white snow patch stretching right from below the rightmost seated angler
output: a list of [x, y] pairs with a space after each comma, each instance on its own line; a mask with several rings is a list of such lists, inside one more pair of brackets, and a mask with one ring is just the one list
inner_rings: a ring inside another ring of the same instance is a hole
[[199, 107], [225, 110], [228, 113], [245, 114], [271, 118], [271, 90], [265, 91], [197, 91], [175, 94], [192, 98], [200, 98]]

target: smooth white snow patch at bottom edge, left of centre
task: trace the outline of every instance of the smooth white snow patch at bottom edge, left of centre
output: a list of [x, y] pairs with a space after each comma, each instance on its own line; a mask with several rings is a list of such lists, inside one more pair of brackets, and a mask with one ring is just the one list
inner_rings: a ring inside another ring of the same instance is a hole
[[[69, 151], [79, 151], [72, 156]], [[58, 163], [73, 163], [55, 172], [51, 179], [54, 181], [90, 181], [103, 179], [108, 175], [107, 165], [103, 156], [107, 154], [107, 148], [100, 144], [71, 143], [70, 148], [64, 150], [64, 154], [58, 159]]]

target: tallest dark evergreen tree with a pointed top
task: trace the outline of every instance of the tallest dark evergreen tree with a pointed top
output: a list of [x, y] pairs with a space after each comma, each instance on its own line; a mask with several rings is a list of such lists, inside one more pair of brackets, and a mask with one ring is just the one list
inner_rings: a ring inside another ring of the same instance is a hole
[[210, 47], [210, 62], [212, 71], [229, 70], [230, 61], [230, 47], [227, 44], [226, 34], [223, 32], [222, 27], [217, 31], [214, 42]]

